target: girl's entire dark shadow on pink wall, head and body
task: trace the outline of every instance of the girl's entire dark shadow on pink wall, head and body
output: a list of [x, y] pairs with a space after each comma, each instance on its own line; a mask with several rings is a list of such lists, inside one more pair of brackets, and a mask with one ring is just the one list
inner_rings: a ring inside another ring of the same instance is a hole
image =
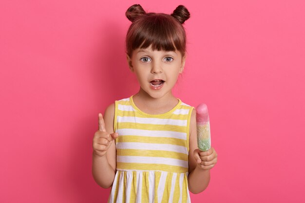
[[[102, 113], [114, 100], [126, 98], [136, 91], [137, 83], [126, 61], [126, 32], [116, 21], [106, 20], [97, 33], [101, 36], [100, 43], [94, 46], [93, 57], [89, 59], [88, 72], [92, 74], [91, 87], [96, 95], [92, 105], [97, 105], [97, 111]], [[110, 189], [98, 186], [91, 173], [92, 139], [98, 125], [98, 112], [94, 113], [96, 119], [94, 114], [79, 117], [80, 120], [76, 121], [76, 131], [72, 132], [76, 139], [69, 157], [71, 164], [64, 175], [68, 175], [66, 179], [71, 181], [71, 193], [77, 202], [106, 203]]]

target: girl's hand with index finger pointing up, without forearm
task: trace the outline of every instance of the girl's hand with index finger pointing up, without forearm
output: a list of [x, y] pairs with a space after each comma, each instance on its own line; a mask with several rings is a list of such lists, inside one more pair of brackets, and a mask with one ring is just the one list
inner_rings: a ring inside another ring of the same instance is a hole
[[114, 142], [114, 139], [118, 137], [118, 133], [114, 132], [109, 134], [106, 132], [105, 123], [103, 119], [103, 115], [101, 113], [98, 114], [98, 130], [95, 132], [93, 138], [93, 150], [95, 155], [104, 156]]

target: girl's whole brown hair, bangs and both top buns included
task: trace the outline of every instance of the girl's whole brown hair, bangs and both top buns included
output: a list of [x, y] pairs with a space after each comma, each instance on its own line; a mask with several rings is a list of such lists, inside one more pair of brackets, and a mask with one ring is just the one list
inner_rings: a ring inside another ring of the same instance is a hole
[[152, 50], [178, 50], [185, 55], [186, 35], [182, 23], [190, 18], [190, 13], [183, 5], [168, 15], [146, 13], [141, 5], [134, 4], [127, 9], [126, 17], [133, 22], [126, 36], [126, 54], [130, 57], [133, 50], [150, 45]]

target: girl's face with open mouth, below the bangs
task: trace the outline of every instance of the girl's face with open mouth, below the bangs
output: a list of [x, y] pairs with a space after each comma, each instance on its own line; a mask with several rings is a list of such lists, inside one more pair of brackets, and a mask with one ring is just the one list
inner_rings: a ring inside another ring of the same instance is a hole
[[185, 65], [185, 56], [179, 51], [153, 51], [151, 46], [133, 50], [132, 58], [127, 55], [127, 60], [141, 89], [153, 98], [172, 94]]

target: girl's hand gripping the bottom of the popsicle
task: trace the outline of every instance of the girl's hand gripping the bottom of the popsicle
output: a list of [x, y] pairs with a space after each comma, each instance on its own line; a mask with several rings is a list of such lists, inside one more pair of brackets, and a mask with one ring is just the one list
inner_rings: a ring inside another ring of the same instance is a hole
[[194, 150], [194, 158], [201, 169], [211, 169], [217, 163], [217, 153], [214, 148], [210, 148], [208, 151], [201, 151], [197, 148]]

